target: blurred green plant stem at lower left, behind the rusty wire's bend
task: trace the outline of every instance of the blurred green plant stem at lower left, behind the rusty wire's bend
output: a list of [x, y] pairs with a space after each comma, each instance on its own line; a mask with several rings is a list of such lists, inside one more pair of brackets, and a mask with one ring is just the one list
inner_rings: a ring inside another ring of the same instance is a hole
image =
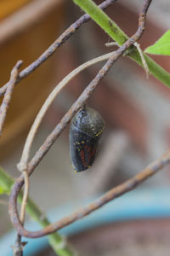
[[[10, 190], [14, 184], [14, 179], [10, 177], [3, 169], [0, 167], [0, 189], [2, 193], [9, 195]], [[18, 201], [22, 202], [22, 192], [19, 194]], [[43, 228], [50, 224], [47, 217], [42, 218], [42, 212], [37, 207], [34, 201], [31, 198], [28, 198], [26, 204], [26, 212], [28, 212], [38, 224], [40, 224]], [[59, 256], [74, 256], [75, 252], [73, 252], [71, 247], [68, 247], [68, 244], [65, 242], [65, 238], [60, 236], [59, 233], [55, 232], [48, 236], [48, 241], [51, 247], [53, 247], [54, 252]]]

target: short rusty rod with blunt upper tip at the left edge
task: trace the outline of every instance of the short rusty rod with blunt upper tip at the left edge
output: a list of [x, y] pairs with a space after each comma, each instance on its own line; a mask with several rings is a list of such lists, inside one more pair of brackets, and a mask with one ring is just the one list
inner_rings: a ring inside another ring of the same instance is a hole
[[11, 71], [11, 76], [10, 76], [10, 80], [8, 82], [8, 87], [7, 87], [7, 90], [3, 97], [3, 102], [0, 107], [0, 136], [2, 134], [3, 124], [4, 124], [4, 121], [6, 118], [8, 104], [11, 100], [11, 96], [12, 96], [12, 93], [14, 90], [14, 84], [16, 83], [16, 80], [19, 77], [19, 69], [20, 69], [20, 66], [22, 65], [22, 63], [23, 63], [23, 61], [18, 61], [16, 63], [16, 65], [14, 66], [13, 70]]

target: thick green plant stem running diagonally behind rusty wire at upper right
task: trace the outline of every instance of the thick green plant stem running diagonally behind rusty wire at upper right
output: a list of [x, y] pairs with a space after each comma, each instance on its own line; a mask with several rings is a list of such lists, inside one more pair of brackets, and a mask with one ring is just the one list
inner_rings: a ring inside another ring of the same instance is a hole
[[[127, 35], [122, 31], [122, 29], [116, 25], [116, 23], [110, 19], [105, 12], [92, 1], [92, 0], [72, 0], [74, 3], [85, 11], [90, 17], [107, 32], [110, 37], [117, 42], [117, 44], [122, 45], [128, 39]], [[143, 67], [139, 52], [137, 49], [133, 49], [128, 53], [128, 56], [136, 61], [140, 66]], [[167, 73], [165, 69], [159, 66], [156, 61], [153, 61], [148, 55], [144, 54], [144, 59], [150, 69], [150, 73], [160, 80], [163, 84], [170, 87], [170, 73]]]

